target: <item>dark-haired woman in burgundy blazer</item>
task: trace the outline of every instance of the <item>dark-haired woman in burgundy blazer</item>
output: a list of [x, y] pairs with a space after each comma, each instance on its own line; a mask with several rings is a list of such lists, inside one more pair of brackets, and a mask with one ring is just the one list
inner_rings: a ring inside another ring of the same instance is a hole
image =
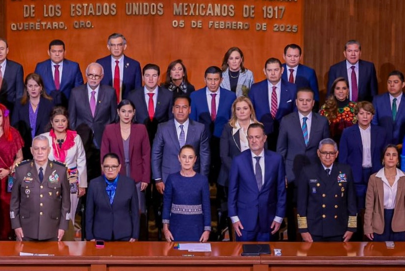
[[120, 173], [135, 181], [141, 213], [146, 212], [145, 190], [151, 178], [151, 147], [145, 125], [133, 123], [135, 105], [118, 104], [117, 123], [106, 126], [101, 140], [101, 157], [116, 153], [122, 161]]

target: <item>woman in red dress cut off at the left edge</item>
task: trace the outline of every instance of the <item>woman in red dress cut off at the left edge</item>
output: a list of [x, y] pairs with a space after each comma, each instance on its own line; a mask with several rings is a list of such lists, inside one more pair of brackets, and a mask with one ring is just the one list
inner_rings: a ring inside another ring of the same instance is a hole
[[0, 103], [0, 240], [14, 237], [9, 216], [11, 193], [7, 192], [8, 176], [23, 160], [21, 148], [24, 141], [10, 126], [9, 114], [10, 111]]

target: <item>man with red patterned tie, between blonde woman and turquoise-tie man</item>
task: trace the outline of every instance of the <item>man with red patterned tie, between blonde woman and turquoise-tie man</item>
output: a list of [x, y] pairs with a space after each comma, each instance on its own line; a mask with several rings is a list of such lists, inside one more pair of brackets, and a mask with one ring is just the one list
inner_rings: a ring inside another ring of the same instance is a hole
[[266, 79], [253, 84], [248, 95], [264, 125], [268, 148], [276, 151], [281, 119], [295, 109], [297, 86], [282, 79], [284, 68], [277, 58], [269, 58], [263, 70]]

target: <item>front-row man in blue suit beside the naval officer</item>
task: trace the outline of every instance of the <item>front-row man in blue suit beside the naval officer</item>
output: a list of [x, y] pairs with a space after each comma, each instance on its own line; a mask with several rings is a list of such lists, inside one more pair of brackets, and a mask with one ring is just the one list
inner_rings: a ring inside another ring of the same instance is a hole
[[234, 158], [229, 173], [228, 213], [237, 241], [270, 241], [285, 215], [285, 171], [280, 154], [265, 150], [261, 124], [247, 129], [249, 150]]

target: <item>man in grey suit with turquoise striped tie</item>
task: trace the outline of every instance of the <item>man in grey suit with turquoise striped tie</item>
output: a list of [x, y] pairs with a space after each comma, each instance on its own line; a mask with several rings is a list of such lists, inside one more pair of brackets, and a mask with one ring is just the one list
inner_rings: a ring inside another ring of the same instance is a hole
[[283, 156], [287, 178], [288, 240], [296, 241], [295, 215], [297, 190], [295, 179], [301, 169], [318, 161], [319, 142], [329, 137], [327, 119], [312, 112], [314, 92], [310, 88], [298, 89], [295, 104], [298, 112], [283, 117], [277, 140], [277, 152]]

